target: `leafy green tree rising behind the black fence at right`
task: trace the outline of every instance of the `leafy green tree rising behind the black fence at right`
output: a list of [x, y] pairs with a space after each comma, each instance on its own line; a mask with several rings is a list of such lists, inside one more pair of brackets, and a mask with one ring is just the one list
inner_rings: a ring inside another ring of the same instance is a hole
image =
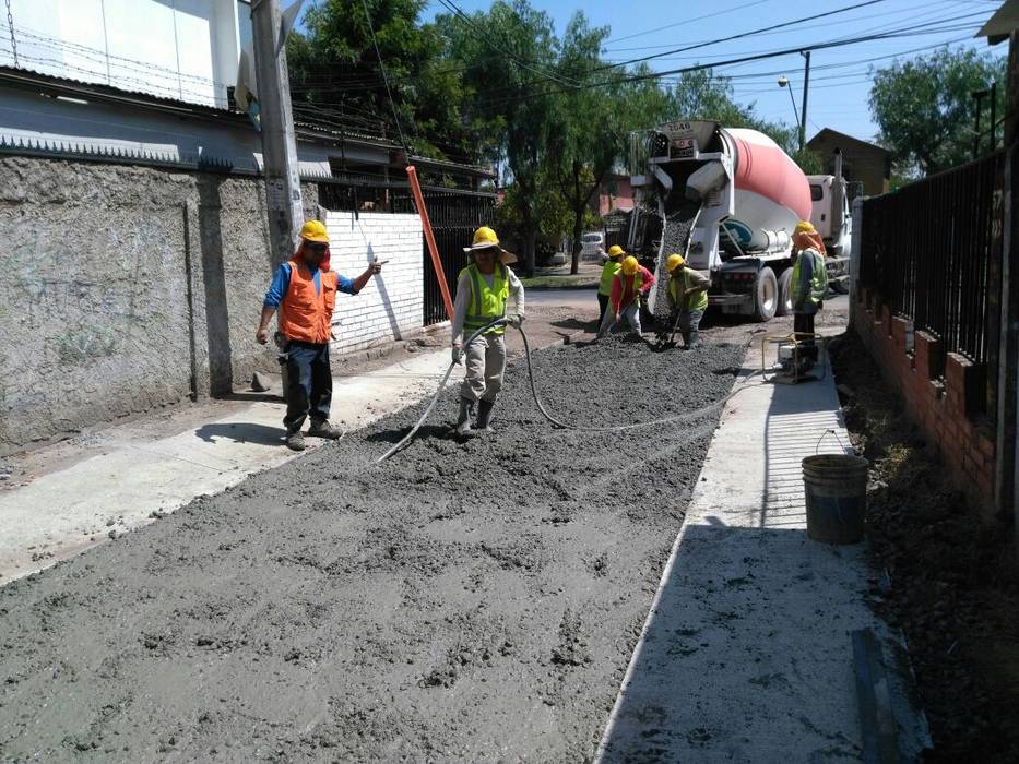
[[[931, 175], [972, 158], [974, 91], [997, 82], [997, 114], [1005, 114], [1002, 58], [946, 47], [870, 72], [870, 111], [880, 128], [878, 142], [892, 152], [900, 175]], [[986, 146], [991, 135], [986, 99], [984, 109], [981, 142]], [[997, 126], [994, 134], [1000, 134]]]

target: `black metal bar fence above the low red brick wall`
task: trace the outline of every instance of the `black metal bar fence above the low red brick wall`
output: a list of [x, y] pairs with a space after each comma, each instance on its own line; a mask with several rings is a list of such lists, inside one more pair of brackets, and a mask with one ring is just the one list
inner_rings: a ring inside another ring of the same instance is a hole
[[[947, 353], [995, 361], [1002, 260], [997, 152], [863, 204], [860, 284]], [[938, 359], [944, 374], [945, 356]]]

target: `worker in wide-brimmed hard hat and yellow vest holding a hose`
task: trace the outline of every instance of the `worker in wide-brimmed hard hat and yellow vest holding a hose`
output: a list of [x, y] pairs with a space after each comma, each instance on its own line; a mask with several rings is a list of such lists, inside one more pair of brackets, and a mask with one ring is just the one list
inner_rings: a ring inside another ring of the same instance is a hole
[[[466, 348], [464, 341], [495, 319], [506, 318], [511, 326], [520, 326], [524, 313], [523, 284], [507, 265], [517, 255], [499, 246], [499, 237], [487, 226], [474, 231], [474, 242], [465, 247], [471, 264], [457, 279], [453, 303], [452, 356], [455, 363], [466, 356], [466, 375], [460, 386], [460, 413], [457, 434], [471, 438], [490, 432], [491, 409], [502, 390], [506, 371], [506, 325], [493, 326], [479, 334]], [[507, 313], [507, 300], [513, 297], [513, 309]], [[477, 420], [472, 423], [474, 406]]]

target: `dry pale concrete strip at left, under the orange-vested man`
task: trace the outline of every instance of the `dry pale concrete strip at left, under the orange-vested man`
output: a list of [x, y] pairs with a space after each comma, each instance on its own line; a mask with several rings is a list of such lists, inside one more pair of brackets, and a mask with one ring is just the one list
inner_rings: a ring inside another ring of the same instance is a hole
[[[448, 363], [449, 351], [440, 350], [336, 378], [332, 421], [352, 429], [399, 410], [430, 394]], [[462, 375], [458, 369], [451, 379]], [[229, 413], [204, 422], [191, 417], [175, 433], [152, 433], [137, 423], [103, 430], [88, 439], [94, 455], [68, 458], [0, 492], [0, 585], [298, 455], [283, 445], [282, 401], [223, 408]]]

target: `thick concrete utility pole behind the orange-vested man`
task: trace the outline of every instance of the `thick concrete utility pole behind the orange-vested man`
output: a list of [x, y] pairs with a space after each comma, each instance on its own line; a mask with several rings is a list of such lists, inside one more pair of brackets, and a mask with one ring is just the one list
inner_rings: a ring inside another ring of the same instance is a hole
[[297, 235], [304, 223], [304, 206], [279, 0], [253, 0], [251, 31], [269, 235], [273, 261], [282, 263], [294, 253]]

